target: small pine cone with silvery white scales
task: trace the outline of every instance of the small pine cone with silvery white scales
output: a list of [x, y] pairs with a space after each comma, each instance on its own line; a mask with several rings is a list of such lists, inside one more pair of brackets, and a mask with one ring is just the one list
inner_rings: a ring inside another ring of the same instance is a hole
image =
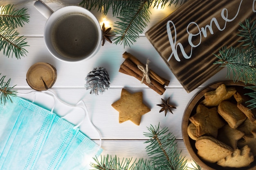
[[90, 94], [99, 95], [108, 90], [110, 78], [108, 72], [103, 67], [93, 68], [93, 70], [85, 77], [86, 90], [91, 89]]

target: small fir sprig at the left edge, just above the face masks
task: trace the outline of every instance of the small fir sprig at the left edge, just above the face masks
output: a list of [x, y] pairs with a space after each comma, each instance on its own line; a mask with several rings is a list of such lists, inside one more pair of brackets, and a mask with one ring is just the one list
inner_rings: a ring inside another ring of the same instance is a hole
[[[1, 73], [0, 73], [1, 75]], [[7, 100], [11, 100], [10, 96], [16, 96], [17, 92], [15, 90], [13, 90], [13, 88], [15, 86], [10, 86], [10, 81], [11, 79], [9, 79], [7, 82], [4, 81], [4, 78], [6, 76], [2, 76], [2, 78], [0, 79], [0, 101], [1, 104], [6, 104]], [[11, 100], [12, 102], [12, 100]]]

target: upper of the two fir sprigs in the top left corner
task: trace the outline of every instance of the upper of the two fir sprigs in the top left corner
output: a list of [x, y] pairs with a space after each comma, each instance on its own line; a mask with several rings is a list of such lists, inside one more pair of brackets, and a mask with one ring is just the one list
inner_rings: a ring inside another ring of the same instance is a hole
[[4, 26], [17, 28], [29, 22], [29, 14], [25, 8], [15, 9], [13, 5], [8, 4], [0, 10], [0, 22]]

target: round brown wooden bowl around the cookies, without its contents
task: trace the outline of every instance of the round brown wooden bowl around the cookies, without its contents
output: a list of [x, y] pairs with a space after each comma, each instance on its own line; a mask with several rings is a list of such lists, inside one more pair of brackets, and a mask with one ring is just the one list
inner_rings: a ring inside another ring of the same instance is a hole
[[254, 162], [251, 163], [251, 166], [244, 167], [244, 168], [224, 168], [224, 167], [218, 166], [217, 163], [207, 163], [202, 161], [197, 155], [197, 149], [195, 148], [195, 141], [191, 139], [187, 133], [187, 127], [190, 123], [189, 117], [193, 116], [196, 113], [196, 107], [204, 99], [204, 93], [215, 90], [220, 84], [225, 84], [227, 87], [235, 87], [240, 94], [252, 92], [249, 89], [244, 89], [246, 85], [243, 82], [234, 83], [233, 81], [215, 82], [213, 84], [210, 84], [206, 88], [202, 89], [201, 91], [199, 91], [187, 105], [182, 118], [182, 136], [183, 136], [184, 144], [189, 154], [191, 155], [192, 159], [205, 170], [227, 170], [227, 169], [256, 170], [255, 157], [254, 157]]

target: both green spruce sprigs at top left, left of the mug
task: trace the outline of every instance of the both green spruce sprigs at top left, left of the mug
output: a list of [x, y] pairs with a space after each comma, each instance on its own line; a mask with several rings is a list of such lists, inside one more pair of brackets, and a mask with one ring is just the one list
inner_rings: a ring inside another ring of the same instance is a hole
[[1, 8], [0, 12], [0, 51], [3, 50], [7, 57], [15, 55], [17, 59], [26, 55], [27, 45], [26, 38], [19, 36], [16, 31], [18, 26], [23, 26], [25, 22], [29, 22], [29, 14], [27, 9], [15, 9], [13, 5], [8, 4]]

